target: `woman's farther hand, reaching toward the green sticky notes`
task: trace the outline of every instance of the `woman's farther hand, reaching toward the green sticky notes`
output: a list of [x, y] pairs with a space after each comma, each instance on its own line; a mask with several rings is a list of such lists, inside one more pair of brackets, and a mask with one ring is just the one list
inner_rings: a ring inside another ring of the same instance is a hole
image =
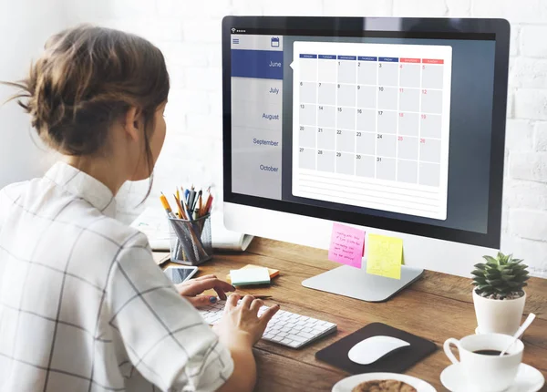
[[222, 300], [226, 299], [226, 292], [232, 292], [232, 284], [217, 279], [215, 275], [205, 275], [196, 279], [176, 284], [177, 291], [195, 307], [207, 306], [217, 301], [216, 296], [201, 295], [205, 290], [214, 289]]

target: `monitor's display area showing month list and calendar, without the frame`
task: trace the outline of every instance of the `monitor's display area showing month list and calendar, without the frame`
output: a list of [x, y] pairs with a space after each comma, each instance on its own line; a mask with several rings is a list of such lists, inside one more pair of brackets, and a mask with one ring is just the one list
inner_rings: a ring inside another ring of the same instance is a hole
[[237, 27], [230, 195], [489, 232], [494, 34]]

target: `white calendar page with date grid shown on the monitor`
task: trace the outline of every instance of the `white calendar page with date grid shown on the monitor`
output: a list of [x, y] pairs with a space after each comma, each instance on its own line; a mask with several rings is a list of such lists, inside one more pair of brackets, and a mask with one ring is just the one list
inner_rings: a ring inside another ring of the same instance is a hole
[[451, 64], [451, 46], [294, 42], [294, 196], [446, 220]]

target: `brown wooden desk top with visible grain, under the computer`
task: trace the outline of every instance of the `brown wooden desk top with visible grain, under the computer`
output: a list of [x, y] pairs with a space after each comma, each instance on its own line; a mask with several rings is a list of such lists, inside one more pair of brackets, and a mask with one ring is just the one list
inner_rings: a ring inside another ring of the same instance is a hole
[[[160, 255], [159, 255], [160, 256]], [[420, 335], [437, 344], [439, 350], [407, 374], [428, 381], [439, 391], [441, 371], [449, 366], [442, 344], [449, 337], [474, 333], [475, 312], [470, 279], [426, 272], [424, 277], [387, 303], [373, 304], [307, 289], [302, 281], [338, 266], [327, 260], [325, 251], [285, 242], [255, 239], [246, 253], [216, 254], [212, 262], [200, 266], [200, 273], [225, 278], [231, 269], [253, 263], [281, 270], [269, 288], [253, 294], [273, 295], [281, 308], [338, 325], [338, 332], [302, 349], [261, 341], [254, 353], [258, 363], [256, 391], [330, 391], [348, 373], [315, 359], [315, 352], [373, 322], [386, 323]], [[242, 292], [244, 292], [242, 290]], [[249, 293], [251, 293], [249, 291]], [[523, 337], [523, 362], [542, 371], [547, 378], [547, 280], [532, 278], [527, 290], [525, 313], [538, 317]], [[547, 387], [542, 390], [547, 391]]]

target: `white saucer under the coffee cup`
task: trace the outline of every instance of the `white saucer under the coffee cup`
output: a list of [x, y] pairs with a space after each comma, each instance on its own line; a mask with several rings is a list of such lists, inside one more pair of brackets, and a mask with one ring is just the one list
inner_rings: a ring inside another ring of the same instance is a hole
[[[464, 377], [461, 377], [459, 365], [450, 365], [440, 374], [440, 382], [451, 392], [470, 391]], [[511, 387], [503, 392], [537, 392], [545, 383], [542, 373], [530, 365], [521, 364], [519, 373]]]

